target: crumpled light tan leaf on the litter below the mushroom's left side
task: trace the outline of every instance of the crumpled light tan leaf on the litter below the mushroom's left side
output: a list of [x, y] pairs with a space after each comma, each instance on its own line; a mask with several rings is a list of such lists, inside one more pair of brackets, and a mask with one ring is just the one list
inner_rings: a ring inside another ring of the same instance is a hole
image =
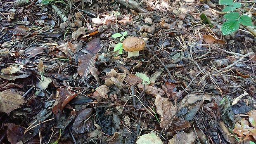
[[109, 86], [114, 84], [114, 82], [111, 80], [111, 77], [116, 78], [119, 80], [121, 83], [123, 83], [123, 80], [126, 78], [126, 71], [123, 73], [117, 73], [114, 68], [111, 69], [109, 73], [106, 73], [106, 80], [105, 80], [105, 85]]

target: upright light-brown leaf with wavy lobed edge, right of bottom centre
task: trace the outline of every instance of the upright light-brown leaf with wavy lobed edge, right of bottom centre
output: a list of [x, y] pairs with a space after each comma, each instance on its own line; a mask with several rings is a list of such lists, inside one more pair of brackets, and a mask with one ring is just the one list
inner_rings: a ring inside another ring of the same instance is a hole
[[156, 96], [155, 103], [156, 112], [161, 116], [160, 127], [166, 129], [171, 126], [172, 119], [175, 116], [176, 109], [171, 102], [168, 102], [167, 98], [161, 97], [160, 95]]

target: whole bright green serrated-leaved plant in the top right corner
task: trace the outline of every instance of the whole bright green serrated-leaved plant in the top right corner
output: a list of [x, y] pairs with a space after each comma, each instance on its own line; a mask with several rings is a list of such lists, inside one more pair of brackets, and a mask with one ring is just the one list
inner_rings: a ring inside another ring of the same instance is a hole
[[238, 12], [232, 12], [235, 9], [242, 7], [239, 2], [233, 2], [233, 0], [219, 0], [220, 5], [228, 5], [224, 7], [223, 12], [230, 12], [224, 15], [225, 19], [228, 19], [221, 28], [223, 35], [228, 35], [238, 30], [240, 24], [243, 26], [251, 26], [251, 18], [247, 15], [241, 15]]

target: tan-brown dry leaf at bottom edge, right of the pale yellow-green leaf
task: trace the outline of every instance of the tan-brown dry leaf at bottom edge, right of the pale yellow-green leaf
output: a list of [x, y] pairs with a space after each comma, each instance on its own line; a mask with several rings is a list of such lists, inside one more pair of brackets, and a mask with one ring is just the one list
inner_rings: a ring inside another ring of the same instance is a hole
[[168, 144], [194, 144], [197, 136], [192, 131], [190, 133], [177, 132], [177, 134], [169, 140]]

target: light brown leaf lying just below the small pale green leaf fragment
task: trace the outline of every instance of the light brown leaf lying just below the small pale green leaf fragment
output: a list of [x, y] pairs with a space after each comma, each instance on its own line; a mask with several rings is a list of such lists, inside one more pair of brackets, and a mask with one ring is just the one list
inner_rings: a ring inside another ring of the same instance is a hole
[[[139, 89], [141, 91], [144, 90], [144, 85], [143, 84], [139, 83], [137, 86], [139, 87]], [[161, 88], [153, 87], [153, 86], [149, 86], [149, 85], [146, 85], [145, 88], [146, 88], [146, 90], [145, 90], [146, 94], [153, 95], [155, 97], [157, 95], [160, 95], [160, 96], [164, 95], [164, 90], [162, 90]]]

